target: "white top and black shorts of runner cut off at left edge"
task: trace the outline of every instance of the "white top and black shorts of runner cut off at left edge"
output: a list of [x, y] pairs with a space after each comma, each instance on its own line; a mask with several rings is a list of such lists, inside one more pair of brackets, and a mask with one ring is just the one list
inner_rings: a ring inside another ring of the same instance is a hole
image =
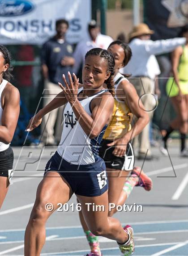
[[[1, 126], [1, 117], [3, 113], [3, 108], [1, 105], [1, 95], [7, 85], [8, 81], [4, 80], [0, 84], [0, 126]], [[9, 144], [4, 144], [0, 141], [0, 176], [12, 177], [13, 174], [13, 149]]]

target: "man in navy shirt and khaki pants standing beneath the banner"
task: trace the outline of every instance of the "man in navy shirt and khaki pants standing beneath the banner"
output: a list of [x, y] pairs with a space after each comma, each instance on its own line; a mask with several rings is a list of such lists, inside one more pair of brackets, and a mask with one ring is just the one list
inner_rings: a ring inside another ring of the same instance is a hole
[[[68, 79], [68, 71], [72, 72], [74, 64], [73, 47], [65, 40], [68, 30], [68, 21], [60, 19], [56, 21], [56, 35], [50, 38], [42, 47], [41, 62], [42, 72], [45, 79], [44, 105], [46, 106], [61, 89], [58, 82], [63, 84], [62, 74]], [[56, 124], [56, 140], [60, 141], [62, 132], [63, 107], [55, 109], [43, 118], [43, 143], [56, 144], [54, 138], [54, 126]]]

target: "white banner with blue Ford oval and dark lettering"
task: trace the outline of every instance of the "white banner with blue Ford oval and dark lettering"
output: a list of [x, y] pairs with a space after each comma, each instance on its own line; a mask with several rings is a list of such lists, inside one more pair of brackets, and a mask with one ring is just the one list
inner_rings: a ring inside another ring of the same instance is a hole
[[66, 39], [77, 43], [87, 36], [90, 0], [0, 0], [0, 44], [41, 45], [61, 18], [69, 22]]

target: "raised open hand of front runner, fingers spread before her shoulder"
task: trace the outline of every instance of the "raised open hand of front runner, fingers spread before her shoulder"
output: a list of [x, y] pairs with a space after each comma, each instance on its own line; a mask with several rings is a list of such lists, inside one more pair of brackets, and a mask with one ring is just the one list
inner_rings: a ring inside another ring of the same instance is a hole
[[63, 74], [63, 81], [66, 87], [64, 87], [60, 82], [58, 83], [61, 87], [61, 89], [64, 92], [64, 95], [68, 102], [73, 105], [73, 103], [77, 100], [77, 93], [78, 93], [78, 85], [79, 85], [79, 78], [73, 73], [73, 79], [71, 77], [70, 72], [68, 72], [68, 80], [69, 80], [69, 85], [68, 82]]

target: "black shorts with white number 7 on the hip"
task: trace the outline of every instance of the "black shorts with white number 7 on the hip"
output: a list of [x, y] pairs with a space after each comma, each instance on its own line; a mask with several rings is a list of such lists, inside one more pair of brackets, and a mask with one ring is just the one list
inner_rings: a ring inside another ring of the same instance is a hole
[[107, 144], [110, 144], [111, 142], [111, 140], [103, 139], [99, 149], [99, 156], [103, 158], [107, 168], [131, 171], [135, 161], [132, 144], [128, 142], [126, 154], [124, 157], [116, 157], [112, 153], [115, 149], [115, 146], [107, 146]]

